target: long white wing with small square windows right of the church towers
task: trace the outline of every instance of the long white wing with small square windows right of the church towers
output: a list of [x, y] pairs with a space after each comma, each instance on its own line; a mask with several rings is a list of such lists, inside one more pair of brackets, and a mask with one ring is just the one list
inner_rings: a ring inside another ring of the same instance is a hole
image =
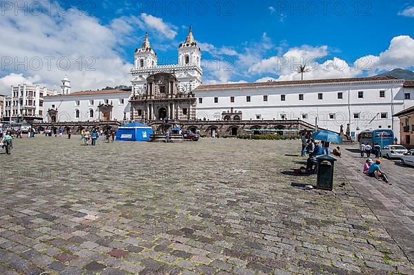
[[400, 132], [393, 114], [414, 105], [414, 89], [393, 77], [201, 85], [197, 119], [301, 119], [339, 132], [386, 128]]

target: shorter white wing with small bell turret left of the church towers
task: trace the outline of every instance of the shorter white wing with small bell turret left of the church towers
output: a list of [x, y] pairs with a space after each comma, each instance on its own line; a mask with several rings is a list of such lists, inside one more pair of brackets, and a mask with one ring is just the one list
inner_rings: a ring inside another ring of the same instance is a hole
[[[69, 85], [68, 85], [69, 83]], [[62, 94], [45, 96], [43, 121], [122, 121], [130, 119], [131, 90], [70, 92], [70, 81], [62, 80]]]

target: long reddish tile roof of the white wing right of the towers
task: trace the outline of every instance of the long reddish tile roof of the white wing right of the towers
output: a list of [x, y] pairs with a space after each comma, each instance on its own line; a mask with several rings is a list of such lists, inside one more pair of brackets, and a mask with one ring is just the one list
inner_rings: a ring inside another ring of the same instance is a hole
[[266, 87], [275, 85], [298, 85], [298, 84], [314, 84], [314, 83], [340, 83], [340, 82], [363, 82], [363, 81], [381, 81], [393, 80], [395, 77], [355, 77], [348, 79], [313, 79], [313, 80], [295, 80], [295, 81], [268, 81], [253, 83], [233, 83], [233, 84], [213, 84], [200, 85], [197, 90], [209, 89], [231, 89], [231, 88], [248, 88], [248, 87]]

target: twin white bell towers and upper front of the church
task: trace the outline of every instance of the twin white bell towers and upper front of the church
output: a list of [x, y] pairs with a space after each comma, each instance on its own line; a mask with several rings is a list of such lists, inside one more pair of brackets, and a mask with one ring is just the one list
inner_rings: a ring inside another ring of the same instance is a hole
[[175, 74], [178, 81], [179, 92], [190, 92], [201, 85], [201, 49], [193, 37], [193, 32], [188, 32], [184, 43], [178, 48], [178, 62], [172, 65], [158, 65], [157, 54], [154, 52], [146, 34], [141, 48], [137, 48], [134, 54], [134, 68], [132, 74], [132, 93], [144, 94], [147, 78], [158, 72]]

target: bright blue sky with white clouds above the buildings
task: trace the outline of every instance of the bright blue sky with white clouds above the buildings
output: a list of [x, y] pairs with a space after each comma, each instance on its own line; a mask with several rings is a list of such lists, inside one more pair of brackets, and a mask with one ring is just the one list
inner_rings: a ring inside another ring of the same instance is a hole
[[[26, 13], [1, 6], [0, 39], [8, 45], [0, 50], [13, 61], [2, 61], [0, 89], [16, 81], [58, 87], [64, 74], [77, 90], [128, 85], [133, 52], [146, 31], [159, 63], [173, 63], [189, 26], [201, 46], [204, 83], [297, 79], [299, 63], [310, 66], [307, 79], [414, 67], [414, 1], [36, 3], [45, 2], [28, 1]], [[68, 57], [70, 69], [13, 64], [48, 56]], [[85, 70], [88, 65], [94, 70]]]

